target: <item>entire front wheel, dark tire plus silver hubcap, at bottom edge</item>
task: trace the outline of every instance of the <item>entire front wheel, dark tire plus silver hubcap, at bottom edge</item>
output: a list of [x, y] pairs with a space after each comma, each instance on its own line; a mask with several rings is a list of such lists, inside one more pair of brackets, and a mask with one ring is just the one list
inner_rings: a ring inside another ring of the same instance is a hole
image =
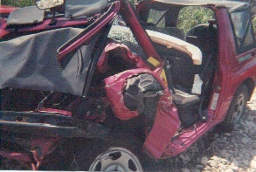
[[111, 134], [105, 140], [86, 141], [78, 149], [75, 170], [143, 171], [142, 143], [133, 134]]

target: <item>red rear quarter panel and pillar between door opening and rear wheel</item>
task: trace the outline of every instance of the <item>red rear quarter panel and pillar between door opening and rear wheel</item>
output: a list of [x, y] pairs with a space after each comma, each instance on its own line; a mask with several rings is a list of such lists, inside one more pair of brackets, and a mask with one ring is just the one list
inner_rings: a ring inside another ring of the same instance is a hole
[[[218, 20], [218, 80], [221, 90], [216, 120], [224, 120], [232, 98], [246, 79], [256, 79], [256, 48], [237, 54], [232, 23], [226, 9], [216, 12]], [[217, 92], [215, 90], [215, 92]]]

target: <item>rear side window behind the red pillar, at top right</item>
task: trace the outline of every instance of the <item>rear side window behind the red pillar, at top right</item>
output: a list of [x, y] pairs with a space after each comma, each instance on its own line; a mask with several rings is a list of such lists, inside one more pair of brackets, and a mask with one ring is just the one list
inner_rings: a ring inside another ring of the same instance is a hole
[[232, 23], [239, 47], [253, 44], [253, 28], [251, 23], [251, 13], [239, 11], [232, 13]]

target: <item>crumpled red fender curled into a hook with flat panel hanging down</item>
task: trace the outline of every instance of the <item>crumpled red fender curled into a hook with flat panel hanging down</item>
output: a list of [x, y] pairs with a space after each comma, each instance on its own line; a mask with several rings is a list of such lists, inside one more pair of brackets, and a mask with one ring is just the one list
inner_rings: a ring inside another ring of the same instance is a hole
[[177, 109], [172, 103], [168, 87], [160, 77], [159, 73], [161, 71], [161, 69], [156, 69], [154, 72], [146, 68], [132, 69], [105, 79], [107, 99], [109, 100], [114, 115], [121, 120], [129, 120], [138, 116], [137, 111], [130, 111], [124, 104], [122, 92], [124, 86], [126, 86], [127, 79], [142, 73], [149, 73], [163, 86], [164, 93], [158, 101], [155, 123], [143, 144], [144, 149], [149, 155], [156, 159], [159, 159], [161, 155], [163, 155], [164, 150], [176, 133], [177, 128], [180, 127]]

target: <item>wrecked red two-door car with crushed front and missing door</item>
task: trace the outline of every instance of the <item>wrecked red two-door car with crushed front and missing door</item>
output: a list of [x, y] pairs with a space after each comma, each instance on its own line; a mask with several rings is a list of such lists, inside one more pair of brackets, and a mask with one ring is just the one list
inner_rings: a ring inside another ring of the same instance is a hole
[[[248, 3], [36, 3], [0, 6], [1, 169], [142, 171], [143, 153], [177, 155], [244, 113], [256, 83]], [[185, 33], [190, 6], [213, 15]]]

